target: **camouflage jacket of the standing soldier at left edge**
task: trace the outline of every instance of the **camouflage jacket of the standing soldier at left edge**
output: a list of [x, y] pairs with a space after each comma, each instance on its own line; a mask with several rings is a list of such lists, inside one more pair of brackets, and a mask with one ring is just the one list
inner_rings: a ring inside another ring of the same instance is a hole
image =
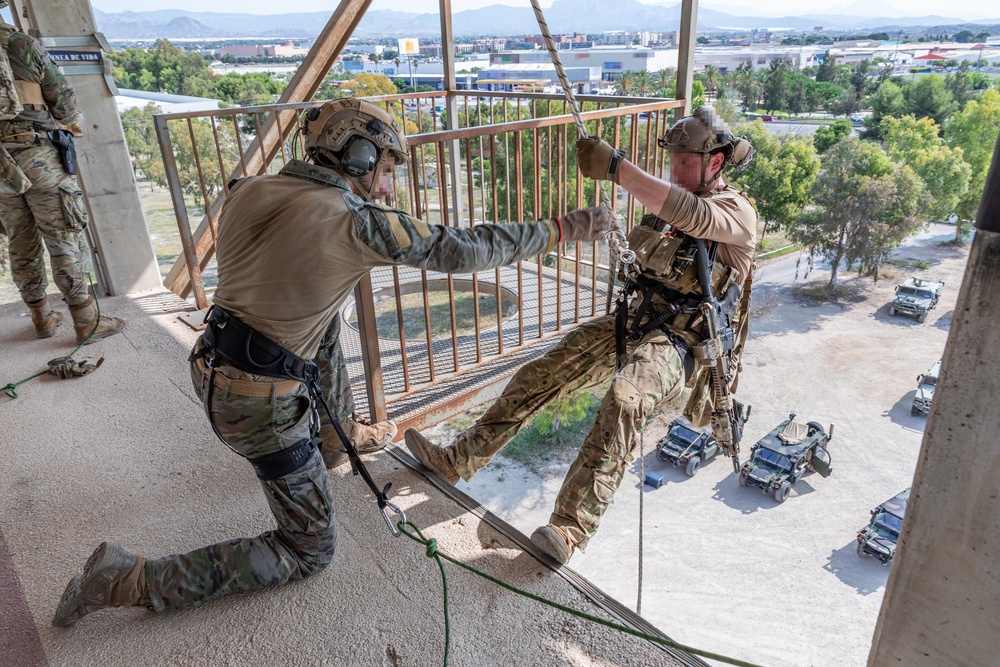
[[43, 129], [55, 129], [53, 118], [63, 125], [81, 120], [76, 93], [41, 42], [3, 22], [0, 22], [0, 32], [6, 33], [7, 57], [14, 77], [38, 83], [48, 106], [47, 111], [25, 109], [13, 120], [0, 121], [0, 132], [7, 135], [23, 132], [25, 128], [30, 130], [32, 122], [39, 123]]

